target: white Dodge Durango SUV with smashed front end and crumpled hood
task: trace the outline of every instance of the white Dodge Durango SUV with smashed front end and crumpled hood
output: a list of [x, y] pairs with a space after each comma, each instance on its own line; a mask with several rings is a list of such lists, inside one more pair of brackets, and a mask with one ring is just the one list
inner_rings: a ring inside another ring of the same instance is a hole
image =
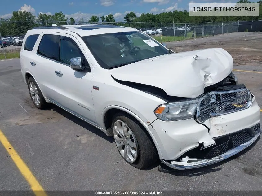
[[26, 33], [21, 72], [34, 105], [53, 103], [113, 136], [142, 169], [224, 160], [260, 136], [260, 108], [221, 48], [174, 53], [134, 28], [38, 27]]

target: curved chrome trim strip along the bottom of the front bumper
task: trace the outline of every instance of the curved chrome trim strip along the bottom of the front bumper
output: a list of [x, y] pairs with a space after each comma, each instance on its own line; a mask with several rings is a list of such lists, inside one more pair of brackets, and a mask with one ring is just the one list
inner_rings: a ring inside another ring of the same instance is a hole
[[211, 165], [211, 164], [223, 161], [224, 159], [227, 159], [227, 158], [239, 153], [240, 151], [244, 150], [245, 148], [247, 148], [248, 146], [253, 144], [259, 138], [260, 134], [261, 134], [261, 130], [260, 130], [259, 133], [257, 133], [248, 142], [241, 144], [241, 145], [225, 152], [224, 154], [213, 157], [211, 159], [202, 159], [201, 161], [192, 162], [192, 163], [172, 161], [172, 162], [175, 162], [175, 164], [168, 163], [166, 160], [163, 160], [163, 159], [160, 159], [160, 160], [161, 160], [162, 163], [166, 164], [168, 167], [173, 168], [173, 169], [178, 169], [178, 170], [204, 167], [204, 166], [207, 166], [207, 165]]

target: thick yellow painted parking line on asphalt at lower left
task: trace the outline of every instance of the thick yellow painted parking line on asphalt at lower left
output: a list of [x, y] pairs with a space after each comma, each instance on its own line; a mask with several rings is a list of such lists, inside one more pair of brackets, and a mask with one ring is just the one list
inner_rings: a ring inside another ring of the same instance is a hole
[[32, 191], [36, 196], [47, 196], [42, 186], [39, 184], [37, 179], [34, 177], [32, 172], [29, 170], [29, 168], [26, 166], [24, 161], [20, 158], [20, 156], [17, 154], [16, 150], [11, 146], [7, 138], [5, 137], [4, 133], [0, 129], [0, 142], [5, 147], [13, 161], [15, 162], [17, 168], [20, 170], [21, 174], [24, 176], [26, 181], [31, 186]]

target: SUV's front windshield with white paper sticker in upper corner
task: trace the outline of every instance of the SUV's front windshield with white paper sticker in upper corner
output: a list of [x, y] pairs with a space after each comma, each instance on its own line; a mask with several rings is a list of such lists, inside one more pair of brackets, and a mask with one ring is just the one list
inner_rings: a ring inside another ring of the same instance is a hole
[[82, 39], [105, 69], [169, 54], [161, 44], [139, 31], [92, 35]]

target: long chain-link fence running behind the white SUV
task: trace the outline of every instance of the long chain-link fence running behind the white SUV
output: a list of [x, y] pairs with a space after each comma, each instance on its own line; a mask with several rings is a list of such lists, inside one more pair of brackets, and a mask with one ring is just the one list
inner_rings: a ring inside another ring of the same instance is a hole
[[[38, 26], [98, 24], [91, 22], [64, 22], [64, 21], [0, 21], [0, 47], [21, 46], [26, 32]], [[139, 29], [154, 36], [160, 42], [178, 41], [196, 37], [206, 37], [233, 32], [262, 31], [260, 21], [237, 22], [209, 22], [209, 23], [142, 23], [142, 22], [114, 22], [99, 23], [126, 26]], [[3, 50], [0, 49], [0, 54]]]

